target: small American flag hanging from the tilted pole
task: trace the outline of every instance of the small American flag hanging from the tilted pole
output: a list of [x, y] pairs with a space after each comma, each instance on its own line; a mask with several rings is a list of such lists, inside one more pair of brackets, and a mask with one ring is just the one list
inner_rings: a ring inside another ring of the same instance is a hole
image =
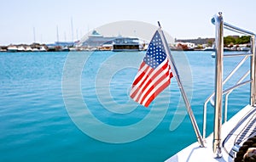
[[145, 107], [171, 83], [170, 59], [164, 46], [159, 31], [156, 31], [132, 83], [131, 98]]

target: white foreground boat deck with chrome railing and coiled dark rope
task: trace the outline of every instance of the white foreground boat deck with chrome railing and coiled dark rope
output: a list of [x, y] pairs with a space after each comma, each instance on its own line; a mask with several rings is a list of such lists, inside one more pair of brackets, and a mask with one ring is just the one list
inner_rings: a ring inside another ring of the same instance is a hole
[[[256, 161], [255, 34], [251, 31], [246, 31], [224, 22], [221, 13], [216, 14], [212, 18], [212, 24], [215, 25], [216, 29], [216, 50], [214, 54], [214, 58], [216, 60], [215, 89], [204, 103], [202, 136], [201, 133], [195, 129], [198, 142], [184, 148], [177, 154], [173, 155], [170, 159], [166, 159], [166, 162]], [[224, 29], [251, 36], [250, 53], [224, 54]], [[224, 58], [236, 56], [239, 56], [241, 61], [233, 70], [230, 71], [229, 75], [224, 78]], [[250, 59], [249, 70], [247, 70], [246, 73], [238, 79], [234, 86], [224, 87], [224, 84], [230, 80], [231, 76], [236, 75], [236, 71], [243, 64], [247, 63], [247, 59]], [[249, 79], [247, 80], [247, 78]], [[230, 120], [227, 120], [228, 109], [232, 109], [228, 108], [230, 93], [237, 87], [241, 87], [246, 84], [250, 85], [250, 96], [248, 97], [249, 103], [236, 115], [230, 118]], [[208, 106], [212, 106], [214, 108], [214, 123], [212, 134], [209, 137], [206, 137]], [[193, 126], [196, 126], [195, 120], [191, 119], [191, 121]]]

